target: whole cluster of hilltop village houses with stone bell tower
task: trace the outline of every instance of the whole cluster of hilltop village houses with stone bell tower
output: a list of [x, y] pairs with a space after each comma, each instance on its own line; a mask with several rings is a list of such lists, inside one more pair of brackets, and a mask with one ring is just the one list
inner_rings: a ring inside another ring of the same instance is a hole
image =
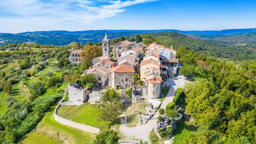
[[[82, 51], [73, 51], [69, 60], [72, 63], [80, 63]], [[131, 42], [123, 40], [113, 45], [111, 59], [110, 39], [105, 34], [102, 39], [102, 56], [92, 59], [93, 65], [84, 75], [95, 75], [97, 83], [94, 90], [106, 87], [118, 90], [131, 88], [137, 85], [138, 81], [134, 78], [139, 75], [137, 78], [143, 88], [142, 96], [159, 98], [164, 81], [168, 81], [168, 78], [177, 72], [179, 59], [176, 58], [176, 53], [173, 46], [167, 48], [156, 42], [149, 45], [142, 42], [132, 45]]]

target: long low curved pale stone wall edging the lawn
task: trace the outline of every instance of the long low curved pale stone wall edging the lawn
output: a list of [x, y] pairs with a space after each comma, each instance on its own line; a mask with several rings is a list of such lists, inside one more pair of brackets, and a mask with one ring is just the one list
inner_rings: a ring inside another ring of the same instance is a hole
[[64, 119], [64, 118], [58, 116], [57, 115], [57, 110], [61, 106], [61, 103], [62, 103], [63, 100], [64, 100], [64, 97], [61, 99], [61, 101], [59, 101], [57, 107], [54, 110], [54, 119], [57, 122], [59, 122], [59, 123], [61, 123], [63, 125], [68, 125], [68, 126], [70, 126], [72, 128], [76, 128], [76, 129], [79, 129], [79, 130], [82, 130], [82, 131], [86, 131], [86, 132], [90, 132], [90, 133], [94, 133], [94, 134], [97, 134], [98, 132], [100, 132], [99, 128], [95, 128], [95, 127], [92, 127], [92, 126], [89, 126], [89, 125], [84, 125], [84, 124], [81, 124], [81, 123], [78, 123], [78, 122], [73, 122], [71, 120]]

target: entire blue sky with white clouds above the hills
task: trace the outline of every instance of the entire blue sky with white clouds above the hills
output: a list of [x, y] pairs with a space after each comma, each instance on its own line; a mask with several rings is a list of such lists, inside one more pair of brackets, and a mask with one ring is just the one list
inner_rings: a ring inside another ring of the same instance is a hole
[[256, 28], [255, 0], [1, 0], [0, 32]]

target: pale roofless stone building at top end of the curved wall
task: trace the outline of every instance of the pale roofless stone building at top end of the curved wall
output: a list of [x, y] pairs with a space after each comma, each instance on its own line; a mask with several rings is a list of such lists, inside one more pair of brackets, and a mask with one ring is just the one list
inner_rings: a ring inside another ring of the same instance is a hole
[[80, 87], [76, 83], [68, 85], [69, 102], [74, 102], [78, 105], [83, 104], [83, 102], [89, 98], [89, 93], [91, 93], [91, 90], [88, 90], [87, 87]]

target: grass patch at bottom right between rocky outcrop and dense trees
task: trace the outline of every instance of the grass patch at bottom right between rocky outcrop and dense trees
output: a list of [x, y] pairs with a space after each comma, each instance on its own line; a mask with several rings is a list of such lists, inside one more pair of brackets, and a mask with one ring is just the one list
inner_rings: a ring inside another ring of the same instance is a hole
[[173, 144], [186, 144], [186, 140], [188, 139], [189, 135], [193, 131], [196, 131], [193, 122], [184, 122], [179, 120], [176, 124], [176, 127], [177, 129], [173, 131]]

